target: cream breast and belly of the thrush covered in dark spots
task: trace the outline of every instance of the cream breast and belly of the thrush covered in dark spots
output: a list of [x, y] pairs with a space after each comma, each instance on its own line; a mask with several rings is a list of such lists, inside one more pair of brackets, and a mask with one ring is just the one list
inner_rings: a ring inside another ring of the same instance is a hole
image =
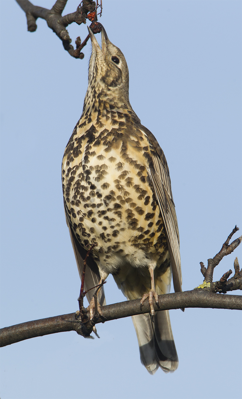
[[147, 176], [147, 137], [133, 125], [100, 130], [77, 125], [65, 149], [63, 195], [73, 231], [86, 249], [97, 244], [97, 263], [135, 248], [158, 260], [168, 247]]

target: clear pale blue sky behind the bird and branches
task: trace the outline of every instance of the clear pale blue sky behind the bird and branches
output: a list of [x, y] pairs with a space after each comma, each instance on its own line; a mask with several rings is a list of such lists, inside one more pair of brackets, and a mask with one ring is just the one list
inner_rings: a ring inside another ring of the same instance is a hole
[[[34, 4], [51, 8], [54, 0]], [[68, 1], [64, 14], [78, 4]], [[0, 6], [1, 316], [9, 326], [78, 308], [61, 160], [81, 116], [91, 43], [76, 60], [45, 21], [30, 33], [16, 2]], [[103, 0], [100, 22], [126, 57], [131, 105], [165, 152], [182, 288], [190, 290], [203, 280], [199, 262], [220, 250], [235, 224], [242, 228], [241, 2]], [[67, 29], [73, 43], [87, 36], [85, 25]], [[241, 267], [238, 248], [215, 279], [233, 269], [236, 256]], [[108, 304], [124, 300], [112, 276], [105, 293]], [[1, 399], [240, 398], [241, 313], [170, 315], [180, 361], [173, 374], [149, 375], [126, 318], [98, 325], [100, 339], [66, 332], [2, 348]]]

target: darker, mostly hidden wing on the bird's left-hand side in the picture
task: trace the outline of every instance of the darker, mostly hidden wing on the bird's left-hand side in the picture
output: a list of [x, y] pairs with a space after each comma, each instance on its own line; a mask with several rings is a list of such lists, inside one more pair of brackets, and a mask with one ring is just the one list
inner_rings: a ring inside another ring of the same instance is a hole
[[[65, 208], [65, 205], [64, 205], [64, 208]], [[65, 220], [66, 220], [67, 226], [69, 228], [69, 233], [71, 236], [71, 243], [72, 243], [73, 251], [75, 254], [75, 260], [77, 263], [77, 267], [78, 267], [78, 271], [79, 271], [79, 275], [80, 275], [80, 279], [81, 279], [81, 275], [83, 272], [83, 262], [87, 255], [87, 251], [79, 244], [79, 242], [70, 226], [66, 209], [65, 209]], [[87, 267], [86, 267], [86, 271], [85, 271], [85, 280], [84, 280], [85, 290], [95, 287], [96, 285], [99, 284], [99, 281], [100, 281], [99, 269], [90, 254], [89, 257], [87, 257]], [[96, 289], [97, 288], [87, 292], [86, 296], [87, 296], [88, 302], [91, 301], [91, 298], [93, 297], [93, 294], [95, 293]], [[98, 294], [98, 301], [101, 306], [106, 305], [103, 287], [101, 288], [101, 290]]]

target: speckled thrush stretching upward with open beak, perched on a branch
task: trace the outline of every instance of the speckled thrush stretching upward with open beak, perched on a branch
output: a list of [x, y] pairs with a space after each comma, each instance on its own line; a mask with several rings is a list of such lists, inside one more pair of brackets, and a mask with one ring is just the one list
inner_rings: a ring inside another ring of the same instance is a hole
[[[178, 356], [169, 311], [153, 298], [181, 292], [179, 230], [163, 150], [129, 102], [129, 70], [101, 26], [92, 43], [81, 118], [65, 148], [62, 187], [66, 222], [79, 274], [87, 258], [85, 289], [113, 275], [128, 300], [149, 300], [150, 314], [132, 316], [141, 363], [149, 373], [175, 371]], [[95, 289], [87, 293], [93, 317]], [[98, 312], [105, 305], [103, 287]]]

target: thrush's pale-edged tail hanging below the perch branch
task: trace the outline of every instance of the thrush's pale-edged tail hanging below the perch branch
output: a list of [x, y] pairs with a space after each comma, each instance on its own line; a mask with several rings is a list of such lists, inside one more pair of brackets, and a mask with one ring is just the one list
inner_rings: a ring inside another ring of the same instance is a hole
[[166, 373], [178, 367], [177, 351], [171, 330], [168, 310], [156, 312], [154, 323], [149, 314], [132, 316], [135, 326], [141, 363], [149, 373], [161, 367]]

